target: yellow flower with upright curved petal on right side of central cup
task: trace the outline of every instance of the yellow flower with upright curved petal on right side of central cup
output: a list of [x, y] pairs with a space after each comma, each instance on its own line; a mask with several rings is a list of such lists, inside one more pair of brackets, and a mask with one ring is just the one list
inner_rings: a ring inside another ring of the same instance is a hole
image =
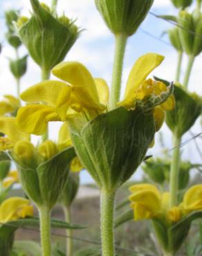
[[[124, 100], [118, 103], [118, 106], [126, 109], [135, 109], [137, 100], [144, 100], [149, 97], [155, 97], [167, 91], [167, 86], [163, 82], [147, 79], [149, 73], [163, 62], [164, 57], [155, 53], [147, 53], [141, 56], [129, 73]], [[165, 120], [165, 112], [174, 109], [174, 95], [170, 95], [165, 102], [154, 108], [154, 120], [156, 131], [160, 129]]]

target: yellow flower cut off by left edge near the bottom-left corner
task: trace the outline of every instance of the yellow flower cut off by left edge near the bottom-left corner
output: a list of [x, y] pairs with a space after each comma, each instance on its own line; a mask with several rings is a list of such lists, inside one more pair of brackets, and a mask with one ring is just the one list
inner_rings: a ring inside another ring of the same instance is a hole
[[33, 205], [28, 199], [10, 197], [0, 205], [0, 223], [15, 221], [20, 218], [32, 217]]

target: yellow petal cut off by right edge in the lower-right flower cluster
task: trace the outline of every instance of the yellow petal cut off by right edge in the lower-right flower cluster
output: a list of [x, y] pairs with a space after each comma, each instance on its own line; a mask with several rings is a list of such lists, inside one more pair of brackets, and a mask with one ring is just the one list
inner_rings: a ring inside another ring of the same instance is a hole
[[202, 185], [192, 186], [183, 197], [185, 211], [202, 210]]

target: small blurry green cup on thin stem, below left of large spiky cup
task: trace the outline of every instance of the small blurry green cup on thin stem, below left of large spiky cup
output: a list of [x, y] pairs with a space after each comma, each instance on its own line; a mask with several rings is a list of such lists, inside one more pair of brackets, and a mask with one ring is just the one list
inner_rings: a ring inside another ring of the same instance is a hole
[[15, 78], [19, 79], [26, 73], [27, 57], [28, 55], [17, 60], [10, 60], [10, 71]]

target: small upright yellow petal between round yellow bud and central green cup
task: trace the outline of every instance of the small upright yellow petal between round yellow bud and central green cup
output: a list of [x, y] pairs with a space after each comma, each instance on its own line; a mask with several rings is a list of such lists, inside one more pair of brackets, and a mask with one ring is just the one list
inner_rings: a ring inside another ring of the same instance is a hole
[[71, 147], [72, 141], [70, 136], [70, 131], [68, 127], [68, 123], [64, 122], [64, 124], [59, 129], [59, 135], [57, 139], [57, 147], [59, 150], [63, 150], [66, 147]]

